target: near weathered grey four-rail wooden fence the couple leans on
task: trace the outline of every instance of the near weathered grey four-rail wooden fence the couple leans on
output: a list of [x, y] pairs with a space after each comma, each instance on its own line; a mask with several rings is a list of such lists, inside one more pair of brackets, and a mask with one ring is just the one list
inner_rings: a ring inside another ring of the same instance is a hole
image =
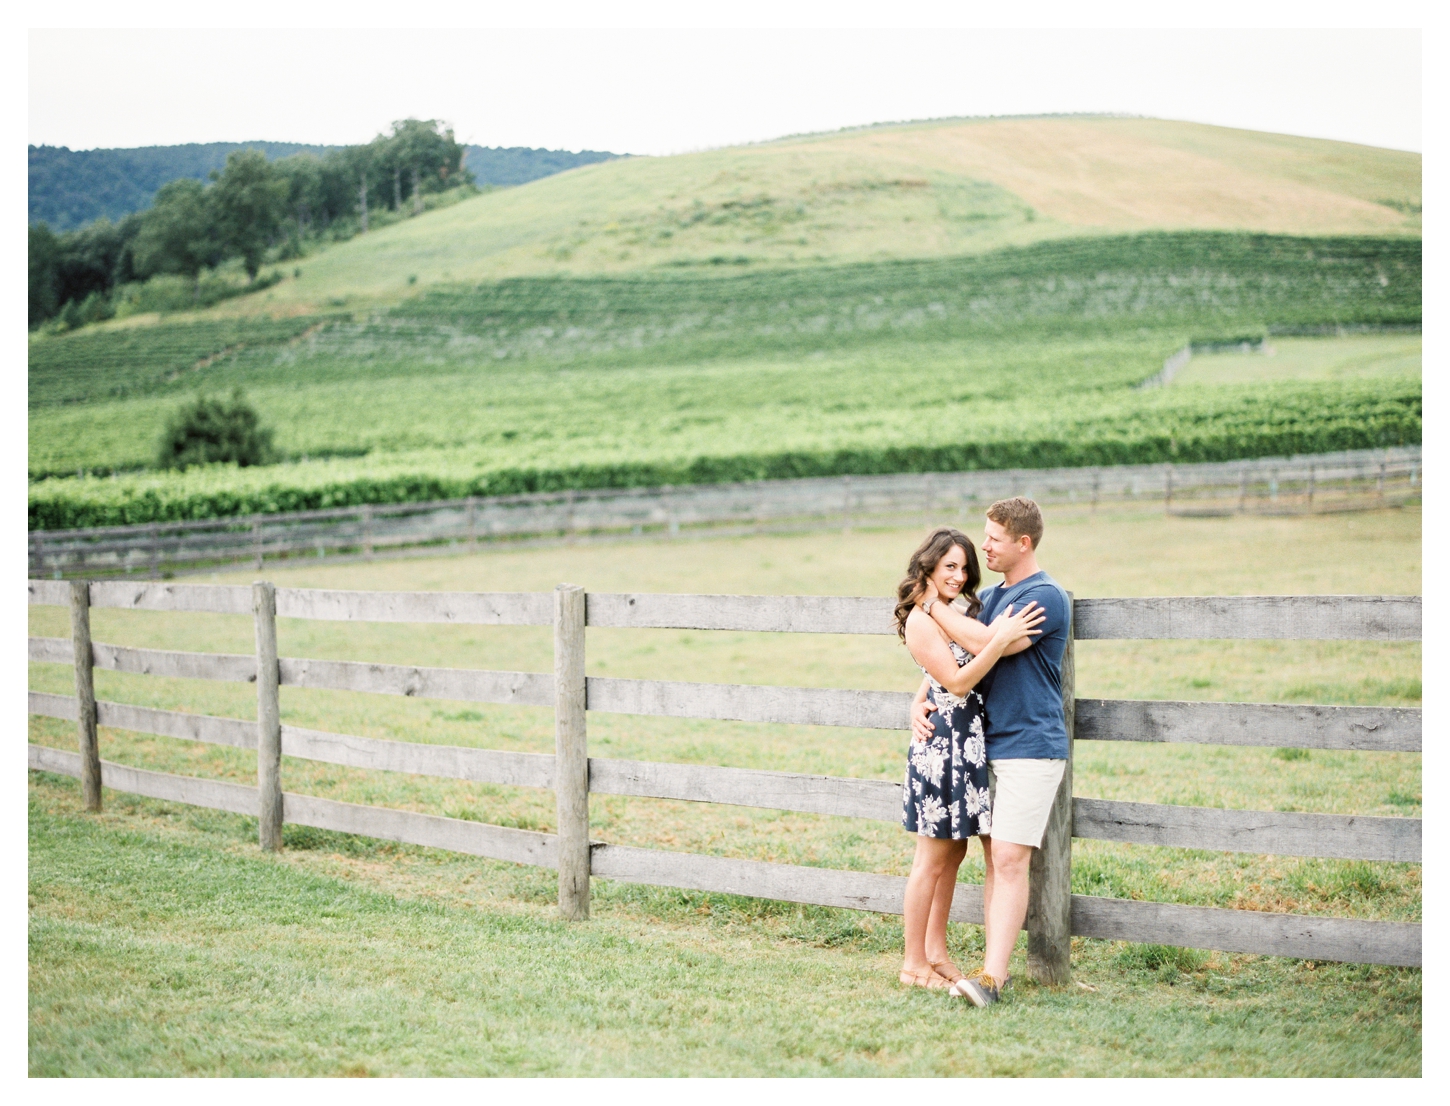
[[[584, 628], [890, 633], [890, 600], [815, 596], [600, 594], [560, 584], [550, 593], [407, 593], [32, 580], [30, 603], [71, 609], [72, 633], [30, 638], [32, 661], [74, 664], [75, 696], [30, 693], [30, 713], [74, 719], [78, 752], [29, 747], [32, 768], [80, 777], [90, 809], [102, 786], [260, 819], [277, 848], [283, 822], [412, 842], [558, 870], [560, 907], [589, 913], [590, 876], [795, 903], [900, 913], [905, 878], [832, 868], [589, 841], [589, 794], [626, 794], [802, 810], [896, 822], [900, 784], [826, 776], [589, 757], [586, 712], [905, 729], [909, 693], [621, 680], [584, 675]], [[251, 615], [254, 654], [141, 649], [91, 641], [90, 609]], [[322, 661], [277, 655], [277, 618], [450, 622], [554, 628], [554, 673], [505, 673]], [[1414, 596], [1077, 599], [1063, 665], [1063, 699], [1076, 741], [1151, 741], [1362, 751], [1420, 751], [1421, 713], [1399, 707], [1180, 703], [1077, 699], [1073, 645], [1103, 638], [1317, 638], [1418, 641]], [[93, 668], [257, 684], [255, 720], [97, 702]], [[278, 687], [323, 687], [480, 703], [552, 706], [555, 752], [380, 741], [289, 726]], [[100, 758], [97, 725], [255, 748], [258, 786], [171, 776]], [[281, 757], [552, 789], [558, 832], [539, 833], [281, 789]], [[1421, 823], [1408, 818], [1124, 803], [1072, 796], [1072, 764], [1031, 878], [1028, 970], [1069, 977], [1070, 935], [1230, 952], [1420, 965], [1418, 923], [1370, 922], [1070, 894], [1073, 838], [1196, 849], [1411, 861]], [[982, 922], [980, 887], [963, 884], [951, 918]]]

